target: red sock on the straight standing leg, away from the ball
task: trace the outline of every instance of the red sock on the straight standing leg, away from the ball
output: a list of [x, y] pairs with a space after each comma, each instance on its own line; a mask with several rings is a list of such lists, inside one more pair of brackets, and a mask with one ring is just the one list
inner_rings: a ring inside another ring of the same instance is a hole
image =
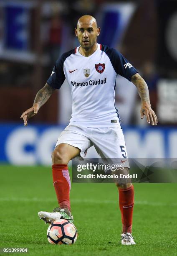
[[134, 187], [119, 188], [119, 207], [121, 210], [122, 233], [131, 233], [134, 206]]

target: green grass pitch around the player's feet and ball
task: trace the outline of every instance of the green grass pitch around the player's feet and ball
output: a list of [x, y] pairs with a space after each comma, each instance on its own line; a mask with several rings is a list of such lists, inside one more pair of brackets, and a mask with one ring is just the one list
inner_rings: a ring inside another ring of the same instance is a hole
[[38, 218], [38, 211], [57, 206], [51, 168], [1, 165], [0, 247], [27, 247], [27, 255], [34, 256], [177, 255], [177, 184], [134, 184], [134, 189], [135, 246], [119, 243], [116, 186], [76, 183], [71, 188], [76, 244], [51, 245], [48, 225]]

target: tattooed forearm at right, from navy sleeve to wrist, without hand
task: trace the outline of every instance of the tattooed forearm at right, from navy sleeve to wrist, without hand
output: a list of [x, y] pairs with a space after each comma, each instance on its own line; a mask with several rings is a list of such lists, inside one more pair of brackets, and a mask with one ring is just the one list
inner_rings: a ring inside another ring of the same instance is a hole
[[138, 94], [141, 97], [142, 102], [148, 102], [149, 100], [149, 90], [147, 87], [147, 83], [144, 81], [144, 79], [140, 76], [140, 74], [134, 74], [131, 77], [131, 82], [134, 83], [134, 85], [137, 87]]

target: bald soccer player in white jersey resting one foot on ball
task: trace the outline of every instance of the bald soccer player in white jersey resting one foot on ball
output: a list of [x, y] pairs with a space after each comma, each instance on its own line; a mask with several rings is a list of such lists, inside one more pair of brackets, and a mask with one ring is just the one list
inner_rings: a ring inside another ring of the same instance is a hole
[[[133, 82], [141, 97], [141, 118], [157, 125], [157, 117], [151, 108], [146, 82], [119, 51], [96, 42], [100, 28], [94, 17], [79, 18], [75, 34], [80, 46], [64, 53], [55, 64], [46, 85], [35, 97], [33, 107], [21, 118], [24, 125], [38, 113], [54, 90], [60, 89], [66, 79], [71, 87], [72, 117], [61, 133], [52, 153], [53, 184], [58, 207], [53, 212], [38, 212], [47, 223], [60, 218], [73, 222], [70, 208], [71, 182], [68, 162], [74, 157], [86, 157], [87, 149], [94, 145], [101, 158], [122, 159], [128, 172], [127, 153], [118, 110], [115, 108], [114, 91], [117, 74]], [[129, 92], [125, 92], [129, 93]], [[64, 110], [63, 110], [64, 111]], [[133, 245], [131, 234], [134, 206], [134, 187], [131, 183], [116, 184], [119, 190], [119, 207], [122, 220], [121, 244]]]

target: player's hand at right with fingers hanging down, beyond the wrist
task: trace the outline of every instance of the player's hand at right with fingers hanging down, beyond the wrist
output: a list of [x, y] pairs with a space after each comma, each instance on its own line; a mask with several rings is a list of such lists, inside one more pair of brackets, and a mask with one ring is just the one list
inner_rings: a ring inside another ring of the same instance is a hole
[[152, 125], [157, 125], [158, 120], [157, 120], [157, 116], [154, 112], [154, 110], [152, 110], [150, 103], [148, 102], [142, 102], [142, 108], [140, 110], [141, 113], [141, 118], [144, 118], [144, 115], [147, 118], [147, 123], [150, 123]]

